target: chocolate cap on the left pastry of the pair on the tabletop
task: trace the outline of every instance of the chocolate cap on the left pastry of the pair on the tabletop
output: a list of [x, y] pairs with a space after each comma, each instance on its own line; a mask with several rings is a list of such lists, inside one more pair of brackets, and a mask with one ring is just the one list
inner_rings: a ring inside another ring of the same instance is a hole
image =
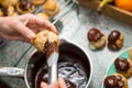
[[101, 36], [103, 36], [103, 35], [101, 34], [101, 32], [98, 29], [91, 29], [88, 32], [88, 40], [91, 42], [99, 41], [101, 38]]

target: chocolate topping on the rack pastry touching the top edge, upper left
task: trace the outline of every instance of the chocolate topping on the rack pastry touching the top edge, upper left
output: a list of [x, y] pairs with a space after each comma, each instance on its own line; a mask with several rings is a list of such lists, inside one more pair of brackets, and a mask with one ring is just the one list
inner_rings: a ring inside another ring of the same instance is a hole
[[29, 1], [20, 1], [19, 4], [20, 9], [22, 9], [23, 11], [29, 11], [29, 9], [32, 9], [32, 4]]

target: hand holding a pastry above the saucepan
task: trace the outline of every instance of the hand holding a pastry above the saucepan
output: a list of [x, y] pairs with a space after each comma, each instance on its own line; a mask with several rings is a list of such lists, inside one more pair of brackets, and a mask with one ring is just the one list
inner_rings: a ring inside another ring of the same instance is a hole
[[57, 34], [51, 22], [33, 14], [0, 18], [0, 37], [7, 40], [32, 43], [35, 34], [45, 29]]

